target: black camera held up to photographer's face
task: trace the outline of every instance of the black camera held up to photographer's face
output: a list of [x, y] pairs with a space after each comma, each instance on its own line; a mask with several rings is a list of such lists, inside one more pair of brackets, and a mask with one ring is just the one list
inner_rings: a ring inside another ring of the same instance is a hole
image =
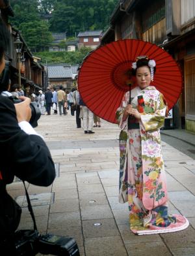
[[[22, 102], [21, 99], [17, 99], [14, 96], [9, 97], [9, 99], [11, 99], [14, 104]], [[41, 112], [38, 107], [38, 104], [35, 101], [30, 103], [30, 107], [31, 107], [31, 120], [29, 121], [29, 123], [31, 123], [32, 127], [36, 127], [38, 125], [37, 121], [41, 116]]]

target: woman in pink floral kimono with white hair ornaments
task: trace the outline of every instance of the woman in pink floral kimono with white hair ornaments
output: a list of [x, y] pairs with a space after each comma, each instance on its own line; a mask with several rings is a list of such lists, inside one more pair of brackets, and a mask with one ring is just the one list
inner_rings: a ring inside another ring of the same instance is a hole
[[130, 229], [135, 234], [180, 231], [188, 227], [188, 220], [168, 215], [160, 136], [168, 108], [162, 93], [150, 86], [155, 61], [138, 57], [132, 69], [137, 86], [131, 95], [125, 93], [116, 112], [121, 129], [119, 200], [129, 204]]

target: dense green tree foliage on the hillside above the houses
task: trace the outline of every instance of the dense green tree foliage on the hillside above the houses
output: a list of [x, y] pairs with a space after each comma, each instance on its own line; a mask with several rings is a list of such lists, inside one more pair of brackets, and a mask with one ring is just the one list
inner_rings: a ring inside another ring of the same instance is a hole
[[[14, 9], [11, 24], [22, 32], [32, 51], [49, 46], [51, 33], [105, 30], [118, 0], [10, 0]], [[44, 14], [51, 14], [44, 22]], [[49, 33], [50, 31], [50, 33]]]

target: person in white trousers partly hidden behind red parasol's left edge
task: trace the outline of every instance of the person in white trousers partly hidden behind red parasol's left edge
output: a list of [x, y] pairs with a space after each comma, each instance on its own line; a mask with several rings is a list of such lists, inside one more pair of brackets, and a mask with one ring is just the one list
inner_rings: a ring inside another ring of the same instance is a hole
[[86, 106], [86, 104], [83, 102], [81, 95], [79, 96], [79, 105], [80, 108], [82, 108], [83, 111], [83, 129], [84, 133], [94, 133], [92, 131], [93, 129], [93, 123], [94, 123], [94, 114], [93, 112]]

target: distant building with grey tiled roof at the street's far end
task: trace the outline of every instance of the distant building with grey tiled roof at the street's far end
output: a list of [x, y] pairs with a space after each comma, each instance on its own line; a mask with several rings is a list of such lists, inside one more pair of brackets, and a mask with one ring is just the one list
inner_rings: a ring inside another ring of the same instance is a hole
[[79, 65], [69, 65], [67, 63], [47, 65], [49, 85], [55, 86], [56, 88], [62, 85], [63, 88], [71, 89], [78, 67]]

